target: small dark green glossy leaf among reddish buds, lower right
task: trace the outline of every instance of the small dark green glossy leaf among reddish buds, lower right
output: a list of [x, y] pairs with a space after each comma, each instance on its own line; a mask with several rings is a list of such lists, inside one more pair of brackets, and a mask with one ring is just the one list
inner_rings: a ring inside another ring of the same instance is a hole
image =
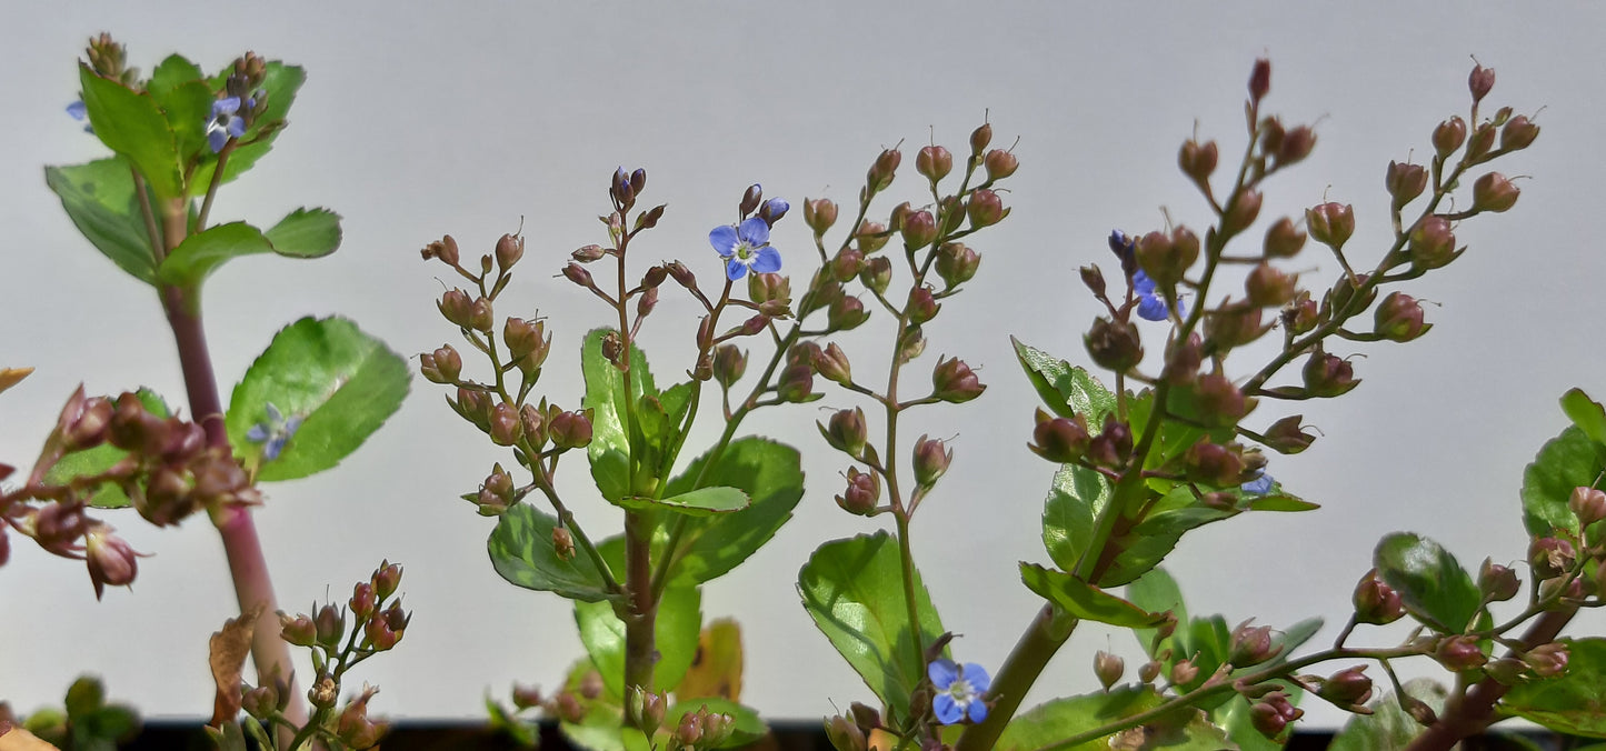
[[1434, 629], [1460, 634], [1478, 616], [1482, 602], [1478, 584], [1437, 542], [1394, 533], [1378, 542], [1372, 560], [1383, 581], [1400, 594], [1405, 610]]

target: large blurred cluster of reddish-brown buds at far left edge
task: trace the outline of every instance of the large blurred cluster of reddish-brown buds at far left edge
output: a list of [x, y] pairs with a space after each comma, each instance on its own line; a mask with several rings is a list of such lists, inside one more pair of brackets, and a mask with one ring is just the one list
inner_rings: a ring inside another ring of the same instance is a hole
[[[56, 477], [56, 465], [79, 451], [114, 448], [119, 456], [93, 473]], [[0, 465], [0, 480], [14, 472]], [[96, 494], [116, 488], [157, 526], [177, 525], [198, 510], [251, 505], [262, 496], [226, 446], [207, 445], [190, 420], [153, 412], [138, 393], [85, 396], [79, 387], [63, 406], [27, 481], [0, 491], [0, 565], [10, 555], [8, 528], [45, 550], [85, 560], [95, 595], [127, 586], [137, 555], [112, 528], [88, 517]]]

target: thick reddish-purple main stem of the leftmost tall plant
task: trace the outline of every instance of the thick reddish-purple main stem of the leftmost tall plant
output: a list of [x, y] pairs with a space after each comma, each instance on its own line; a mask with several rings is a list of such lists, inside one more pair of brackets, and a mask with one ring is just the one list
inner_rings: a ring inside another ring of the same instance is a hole
[[[164, 207], [162, 228], [169, 252], [178, 247], [185, 237], [186, 213], [188, 204], [185, 201], [173, 201]], [[173, 342], [178, 347], [178, 364], [183, 369], [185, 392], [190, 398], [190, 416], [206, 430], [209, 446], [231, 451], [223, 425], [223, 404], [217, 393], [217, 377], [207, 353], [206, 329], [201, 323], [199, 289], [162, 286], [161, 297], [167, 323], [173, 331]], [[228, 558], [230, 576], [234, 579], [239, 611], [262, 608], [251, 643], [257, 679], [263, 680], [265, 676], [278, 671], [289, 682], [289, 704], [284, 708], [284, 714], [292, 722], [302, 722], [307, 717], [307, 708], [302, 703], [302, 692], [296, 687], [289, 647], [279, 639], [273, 581], [268, 578], [268, 563], [262, 555], [262, 542], [257, 539], [257, 526], [251, 520], [251, 510], [243, 507], [218, 509], [212, 514], [212, 523], [223, 538], [223, 554]]]

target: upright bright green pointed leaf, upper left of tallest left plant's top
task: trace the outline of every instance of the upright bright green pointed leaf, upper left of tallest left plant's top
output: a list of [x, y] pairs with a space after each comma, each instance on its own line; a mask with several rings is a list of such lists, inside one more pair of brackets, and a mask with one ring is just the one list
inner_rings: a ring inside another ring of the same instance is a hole
[[79, 63], [79, 85], [90, 127], [106, 148], [128, 159], [159, 197], [185, 194], [173, 132], [148, 93], [95, 74]]

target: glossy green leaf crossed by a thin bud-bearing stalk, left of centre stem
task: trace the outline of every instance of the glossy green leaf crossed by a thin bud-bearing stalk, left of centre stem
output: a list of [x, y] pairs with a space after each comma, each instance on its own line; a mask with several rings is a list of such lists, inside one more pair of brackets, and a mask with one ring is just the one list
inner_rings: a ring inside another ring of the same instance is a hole
[[491, 565], [503, 579], [524, 589], [557, 592], [570, 600], [601, 602], [609, 599], [602, 573], [589, 555], [577, 552], [569, 560], [552, 547], [557, 520], [530, 504], [514, 504], [487, 541]]

